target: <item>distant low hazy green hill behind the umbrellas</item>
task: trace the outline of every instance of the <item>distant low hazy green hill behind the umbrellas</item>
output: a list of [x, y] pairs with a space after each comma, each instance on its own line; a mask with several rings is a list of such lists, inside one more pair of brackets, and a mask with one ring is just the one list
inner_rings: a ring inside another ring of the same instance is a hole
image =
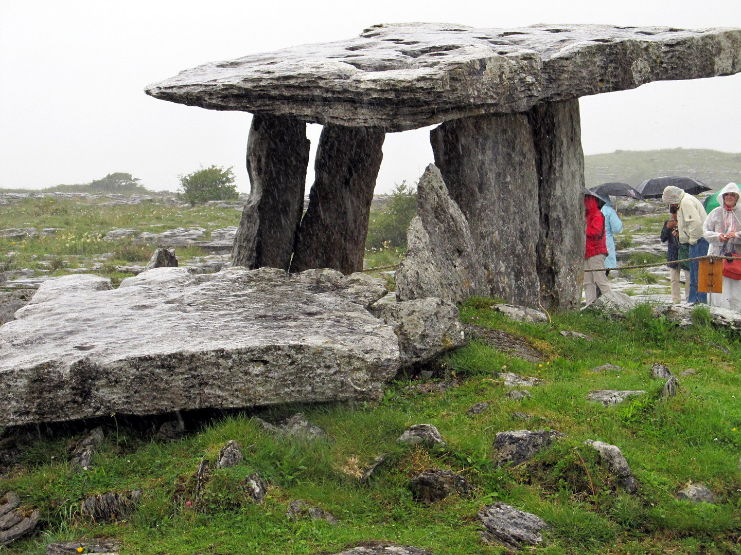
[[741, 181], [741, 154], [708, 149], [616, 150], [584, 157], [588, 187], [622, 181], [637, 186], [649, 178], [681, 175], [720, 189]]

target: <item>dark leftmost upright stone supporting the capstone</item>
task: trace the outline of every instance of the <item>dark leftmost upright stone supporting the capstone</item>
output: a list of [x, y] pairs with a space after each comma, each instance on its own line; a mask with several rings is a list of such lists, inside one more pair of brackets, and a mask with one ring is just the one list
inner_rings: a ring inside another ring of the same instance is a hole
[[309, 140], [306, 124], [255, 114], [247, 140], [250, 198], [234, 239], [233, 266], [288, 270], [304, 209]]

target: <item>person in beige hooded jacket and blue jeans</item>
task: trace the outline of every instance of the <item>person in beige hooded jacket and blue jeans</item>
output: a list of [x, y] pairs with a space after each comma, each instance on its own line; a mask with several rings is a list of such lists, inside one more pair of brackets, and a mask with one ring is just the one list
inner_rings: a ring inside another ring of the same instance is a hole
[[[702, 203], [688, 195], [679, 187], [668, 186], [664, 189], [662, 200], [669, 206], [677, 206], [677, 231], [679, 232], [679, 243], [690, 247], [690, 257], [705, 256], [708, 254], [708, 241], [705, 240], [705, 209]], [[700, 277], [700, 262], [695, 260], [690, 263], [690, 295], [687, 299], [690, 304], [707, 303], [708, 294], [697, 292], [697, 280]]]

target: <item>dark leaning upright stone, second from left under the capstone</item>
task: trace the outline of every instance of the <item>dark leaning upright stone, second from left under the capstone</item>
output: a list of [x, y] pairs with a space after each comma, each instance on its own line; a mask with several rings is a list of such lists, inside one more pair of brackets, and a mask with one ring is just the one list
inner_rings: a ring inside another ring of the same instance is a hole
[[314, 164], [309, 207], [301, 221], [291, 272], [363, 267], [365, 236], [385, 133], [327, 124]]

